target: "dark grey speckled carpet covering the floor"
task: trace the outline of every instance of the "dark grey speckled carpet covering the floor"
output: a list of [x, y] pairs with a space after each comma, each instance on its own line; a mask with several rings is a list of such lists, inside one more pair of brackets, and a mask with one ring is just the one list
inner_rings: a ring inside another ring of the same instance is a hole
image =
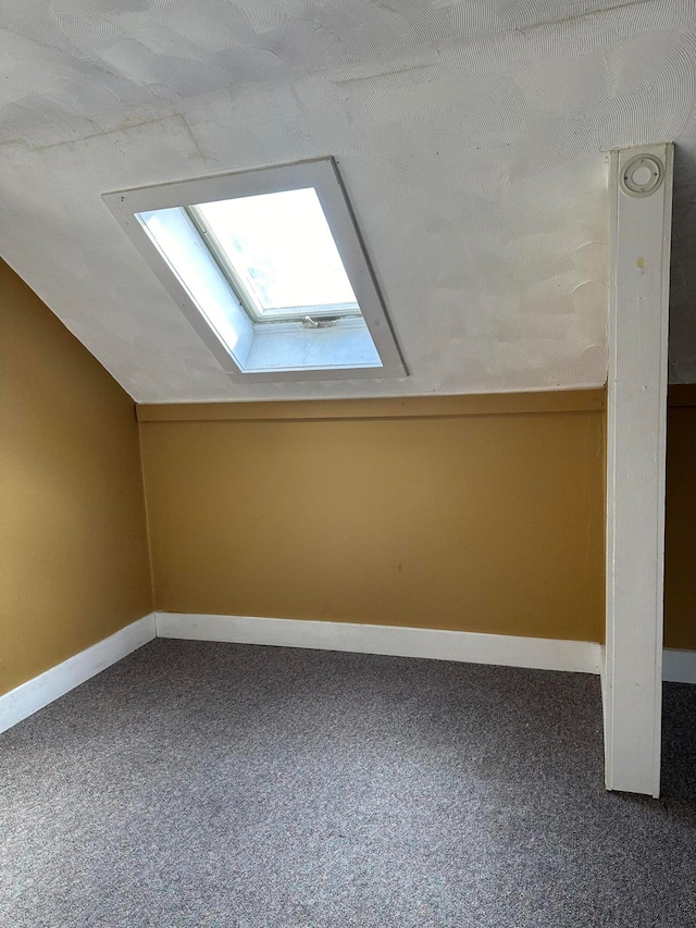
[[583, 675], [158, 640], [0, 737], [8, 928], [696, 926], [696, 686], [664, 799]]

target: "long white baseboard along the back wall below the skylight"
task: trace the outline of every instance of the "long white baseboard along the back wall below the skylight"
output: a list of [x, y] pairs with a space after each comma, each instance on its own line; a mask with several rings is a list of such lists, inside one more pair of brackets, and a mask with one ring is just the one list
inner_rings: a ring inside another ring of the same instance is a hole
[[400, 626], [156, 613], [158, 638], [430, 657], [537, 670], [599, 672], [599, 644]]

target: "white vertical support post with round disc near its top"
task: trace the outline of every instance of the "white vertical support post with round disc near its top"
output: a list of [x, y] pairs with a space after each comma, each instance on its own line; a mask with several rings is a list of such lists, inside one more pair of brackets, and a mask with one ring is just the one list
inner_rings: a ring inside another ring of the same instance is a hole
[[606, 784], [658, 796], [673, 146], [611, 152]]

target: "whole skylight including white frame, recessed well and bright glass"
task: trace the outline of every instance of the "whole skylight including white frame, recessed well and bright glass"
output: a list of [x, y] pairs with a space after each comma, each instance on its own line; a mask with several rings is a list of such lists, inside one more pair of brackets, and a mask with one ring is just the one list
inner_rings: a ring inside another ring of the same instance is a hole
[[331, 160], [104, 200], [231, 376], [406, 374]]

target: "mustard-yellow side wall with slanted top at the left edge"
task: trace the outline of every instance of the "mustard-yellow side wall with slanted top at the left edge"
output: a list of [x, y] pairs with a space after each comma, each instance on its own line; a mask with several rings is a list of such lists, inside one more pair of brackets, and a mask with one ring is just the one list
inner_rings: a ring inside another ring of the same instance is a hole
[[0, 262], [0, 693], [151, 610], [133, 400]]

